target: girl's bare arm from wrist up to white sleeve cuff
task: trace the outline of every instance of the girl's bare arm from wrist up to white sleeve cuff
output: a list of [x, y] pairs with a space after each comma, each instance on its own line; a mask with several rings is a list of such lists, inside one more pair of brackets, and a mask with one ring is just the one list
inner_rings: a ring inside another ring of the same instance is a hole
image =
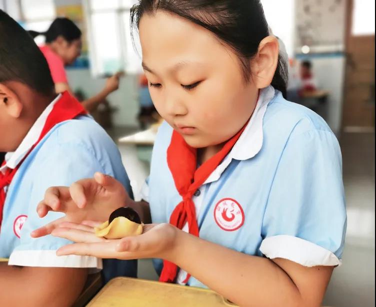
[[239, 306], [318, 307], [333, 271], [249, 256], [179, 230], [174, 241], [166, 259]]

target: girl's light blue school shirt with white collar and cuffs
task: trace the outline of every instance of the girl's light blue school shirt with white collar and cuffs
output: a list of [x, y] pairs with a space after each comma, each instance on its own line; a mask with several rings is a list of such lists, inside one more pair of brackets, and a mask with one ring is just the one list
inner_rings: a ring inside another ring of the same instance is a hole
[[[171, 133], [163, 123], [143, 191], [153, 223], [168, 223], [181, 201], [166, 163]], [[324, 120], [269, 86], [237, 143], [193, 197], [199, 236], [248, 255], [340, 265], [341, 169], [338, 142]], [[154, 265], [159, 273], [161, 260]], [[180, 270], [177, 282], [185, 276]], [[205, 287], [193, 277], [187, 285]]]

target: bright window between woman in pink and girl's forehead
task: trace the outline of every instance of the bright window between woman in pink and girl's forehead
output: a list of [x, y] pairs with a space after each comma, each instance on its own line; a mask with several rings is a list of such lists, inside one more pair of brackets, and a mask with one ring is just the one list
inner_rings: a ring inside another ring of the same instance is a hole
[[[140, 47], [130, 36], [130, 8], [136, 0], [86, 0], [85, 14], [94, 76], [141, 71]], [[137, 36], [137, 35], [135, 35]]]

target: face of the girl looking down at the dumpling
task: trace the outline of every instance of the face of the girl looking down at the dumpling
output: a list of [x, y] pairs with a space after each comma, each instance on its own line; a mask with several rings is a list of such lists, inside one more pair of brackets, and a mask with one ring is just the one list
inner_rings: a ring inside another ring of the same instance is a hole
[[159, 114], [192, 147], [231, 138], [249, 119], [258, 89], [213, 33], [177, 15], [145, 14], [139, 24], [150, 95]]

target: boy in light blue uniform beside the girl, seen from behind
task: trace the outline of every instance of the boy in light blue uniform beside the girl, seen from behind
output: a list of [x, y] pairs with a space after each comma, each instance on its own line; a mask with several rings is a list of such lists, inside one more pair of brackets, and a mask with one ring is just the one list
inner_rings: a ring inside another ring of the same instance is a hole
[[[8, 266], [0, 264], [0, 306], [71, 306], [101, 260], [57, 257], [66, 240], [32, 239], [31, 230], [45, 223], [35, 208], [49, 186], [70, 185], [95, 171], [131, 192], [129, 180], [115, 144], [68, 92], [55, 94], [39, 48], [2, 10], [0, 152], [7, 152], [0, 167], [0, 258], [9, 258]], [[136, 263], [124, 264], [134, 276]]]

